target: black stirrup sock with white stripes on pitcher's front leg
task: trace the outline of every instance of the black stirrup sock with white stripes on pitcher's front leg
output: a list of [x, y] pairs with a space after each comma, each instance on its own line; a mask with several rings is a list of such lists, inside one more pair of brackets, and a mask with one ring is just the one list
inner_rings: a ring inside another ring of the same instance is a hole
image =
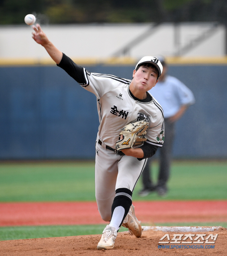
[[[111, 213], [111, 218], [113, 216], [114, 209], [117, 206], [122, 206], [125, 209], [125, 214], [124, 214], [124, 217], [121, 221], [121, 224], [122, 224], [123, 220], [125, 219], [126, 215], [128, 214], [128, 211], [129, 211], [131, 205], [132, 205], [132, 192], [131, 192], [131, 190], [125, 189], [125, 188], [117, 189], [116, 190], [116, 196], [114, 198], [114, 202], [113, 202], [113, 205], [112, 205], [112, 208], [111, 208], [111, 212], [112, 212]], [[120, 226], [121, 226], [121, 224], [120, 224]]]

